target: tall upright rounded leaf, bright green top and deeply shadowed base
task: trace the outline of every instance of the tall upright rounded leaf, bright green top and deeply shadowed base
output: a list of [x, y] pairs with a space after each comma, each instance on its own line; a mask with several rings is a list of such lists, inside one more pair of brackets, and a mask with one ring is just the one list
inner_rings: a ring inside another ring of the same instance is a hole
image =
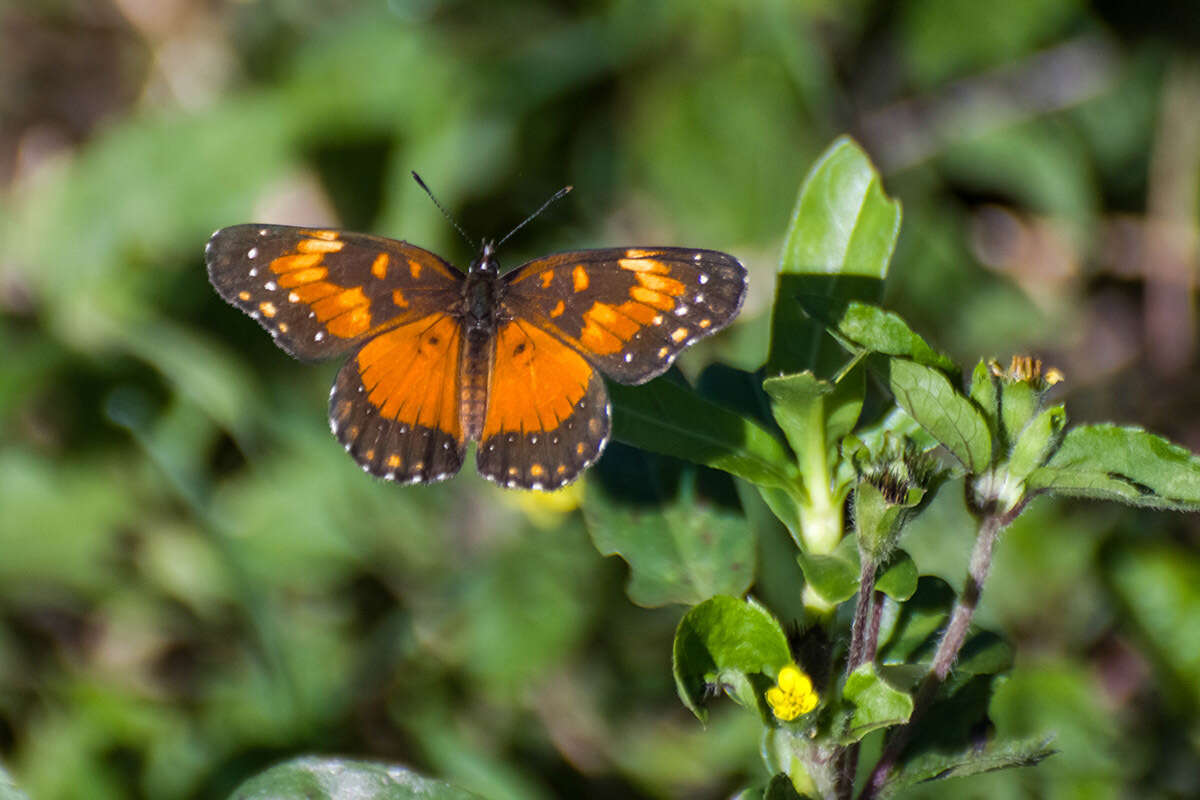
[[836, 355], [798, 297], [878, 300], [900, 231], [900, 204], [883, 194], [866, 154], [840, 138], [800, 186], [784, 241], [768, 372], [832, 374]]

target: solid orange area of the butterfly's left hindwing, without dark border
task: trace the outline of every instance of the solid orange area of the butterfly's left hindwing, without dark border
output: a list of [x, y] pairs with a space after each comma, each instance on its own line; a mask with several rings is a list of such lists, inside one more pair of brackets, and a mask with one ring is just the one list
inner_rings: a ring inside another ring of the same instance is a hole
[[355, 356], [367, 401], [384, 419], [461, 439], [458, 350], [460, 326], [445, 314], [380, 333]]

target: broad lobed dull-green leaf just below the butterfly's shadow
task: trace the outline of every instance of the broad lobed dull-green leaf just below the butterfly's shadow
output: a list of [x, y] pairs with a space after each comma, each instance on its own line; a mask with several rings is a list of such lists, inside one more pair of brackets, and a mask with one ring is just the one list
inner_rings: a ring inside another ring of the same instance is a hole
[[596, 549], [629, 564], [626, 591], [638, 606], [692, 606], [742, 595], [754, 582], [755, 540], [745, 517], [701, 505], [692, 491], [666, 506], [631, 505], [589, 481], [583, 516]]

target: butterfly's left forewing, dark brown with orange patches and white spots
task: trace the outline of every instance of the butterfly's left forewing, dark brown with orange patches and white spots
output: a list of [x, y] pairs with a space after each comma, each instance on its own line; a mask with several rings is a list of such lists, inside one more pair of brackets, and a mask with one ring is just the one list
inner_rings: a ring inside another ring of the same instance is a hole
[[233, 225], [204, 252], [221, 296], [304, 360], [348, 353], [390, 325], [449, 308], [463, 279], [420, 247], [340, 230]]

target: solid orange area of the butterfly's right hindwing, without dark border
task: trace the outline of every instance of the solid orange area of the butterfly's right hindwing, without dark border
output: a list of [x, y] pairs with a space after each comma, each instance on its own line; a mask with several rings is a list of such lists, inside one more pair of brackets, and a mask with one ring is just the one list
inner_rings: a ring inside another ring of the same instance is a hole
[[496, 337], [496, 363], [482, 439], [554, 431], [588, 390], [593, 369], [550, 333], [520, 320]]

